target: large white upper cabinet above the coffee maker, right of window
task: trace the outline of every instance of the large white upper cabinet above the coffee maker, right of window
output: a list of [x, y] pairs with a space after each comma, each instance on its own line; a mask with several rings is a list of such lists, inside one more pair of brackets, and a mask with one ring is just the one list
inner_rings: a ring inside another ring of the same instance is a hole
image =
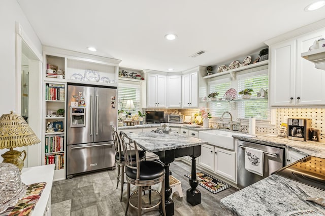
[[325, 71], [301, 57], [324, 31], [305, 34], [270, 46], [270, 105], [325, 104]]

